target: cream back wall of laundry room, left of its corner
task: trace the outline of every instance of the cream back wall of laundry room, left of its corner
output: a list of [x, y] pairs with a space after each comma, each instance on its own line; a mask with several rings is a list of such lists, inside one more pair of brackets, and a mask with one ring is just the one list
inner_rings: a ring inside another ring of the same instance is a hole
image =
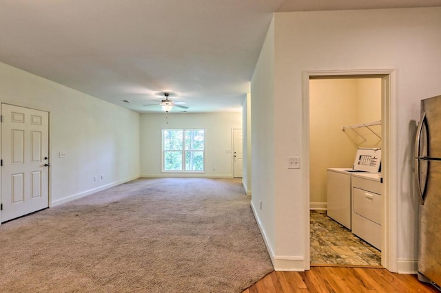
[[309, 81], [311, 208], [326, 208], [326, 169], [353, 163], [356, 146], [342, 131], [342, 126], [356, 120], [355, 96], [353, 79]]

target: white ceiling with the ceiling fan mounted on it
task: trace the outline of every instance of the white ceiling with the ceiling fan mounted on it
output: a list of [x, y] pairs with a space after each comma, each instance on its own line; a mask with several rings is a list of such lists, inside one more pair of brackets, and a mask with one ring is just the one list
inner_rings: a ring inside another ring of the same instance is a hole
[[161, 91], [240, 111], [273, 12], [424, 6], [441, 0], [0, 0], [0, 62], [140, 113]]

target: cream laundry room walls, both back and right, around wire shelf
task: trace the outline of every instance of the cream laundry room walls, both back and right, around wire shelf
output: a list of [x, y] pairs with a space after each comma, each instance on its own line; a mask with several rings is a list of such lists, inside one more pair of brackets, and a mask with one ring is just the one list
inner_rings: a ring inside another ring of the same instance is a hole
[[342, 131], [342, 127], [380, 120], [381, 79], [310, 80], [309, 115], [310, 207], [325, 209], [326, 169], [350, 168], [358, 147], [381, 146], [380, 125]]

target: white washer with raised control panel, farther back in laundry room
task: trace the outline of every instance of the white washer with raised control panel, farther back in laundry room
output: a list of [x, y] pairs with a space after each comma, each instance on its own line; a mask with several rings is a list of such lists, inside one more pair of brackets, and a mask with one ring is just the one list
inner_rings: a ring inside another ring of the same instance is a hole
[[352, 168], [327, 169], [327, 215], [351, 230], [351, 178], [354, 172], [378, 173], [381, 149], [359, 148]]

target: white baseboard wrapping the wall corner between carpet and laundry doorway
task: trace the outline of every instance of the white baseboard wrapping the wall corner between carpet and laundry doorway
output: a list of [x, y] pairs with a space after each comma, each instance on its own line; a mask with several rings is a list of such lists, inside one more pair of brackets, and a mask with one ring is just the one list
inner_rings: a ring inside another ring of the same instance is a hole
[[269, 253], [269, 257], [271, 262], [273, 263], [274, 270], [276, 271], [294, 271], [294, 272], [303, 272], [305, 271], [305, 257], [297, 257], [297, 256], [289, 256], [289, 255], [276, 255], [274, 250], [272, 249], [271, 243], [265, 233], [265, 229], [262, 226], [262, 223], [256, 213], [256, 208], [254, 207], [253, 202], [251, 203], [251, 208], [256, 218], [257, 226], [259, 227], [260, 234], [262, 234], [263, 241], [265, 242], [265, 246], [267, 246], [267, 250]]

